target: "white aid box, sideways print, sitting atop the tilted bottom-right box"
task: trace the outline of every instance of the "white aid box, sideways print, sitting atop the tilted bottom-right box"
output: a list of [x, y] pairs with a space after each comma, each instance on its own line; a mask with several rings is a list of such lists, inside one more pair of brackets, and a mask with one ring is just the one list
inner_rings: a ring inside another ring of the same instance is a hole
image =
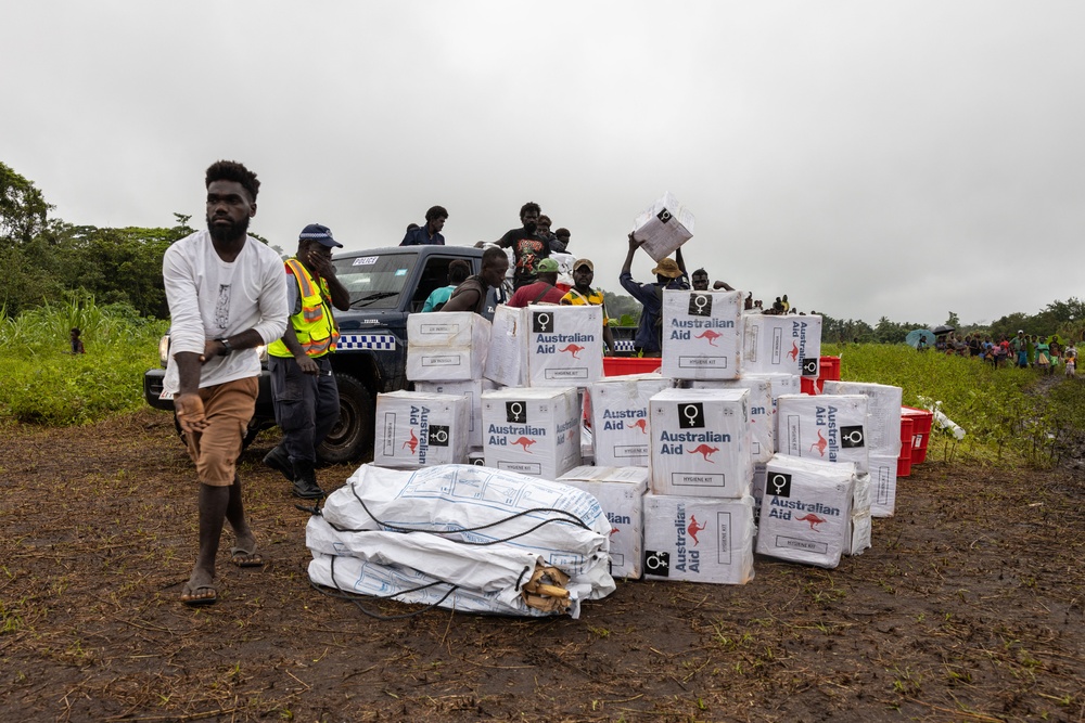
[[783, 454], [869, 467], [867, 398], [863, 395], [784, 395], [777, 400], [776, 447]]

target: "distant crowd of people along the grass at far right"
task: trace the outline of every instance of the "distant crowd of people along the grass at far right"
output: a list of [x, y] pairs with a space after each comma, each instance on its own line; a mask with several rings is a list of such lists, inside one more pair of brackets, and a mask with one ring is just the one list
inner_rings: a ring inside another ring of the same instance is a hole
[[[922, 339], [917, 349], [927, 350]], [[949, 332], [936, 337], [934, 351], [971, 357], [982, 362], [990, 362], [995, 369], [1018, 366], [1055, 374], [1061, 367], [1067, 376], [1077, 375], [1077, 347], [1072, 340], [1063, 341], [1058, 334], [1045, 338], [1018, 331], [1013, 337], [1007, 338], [1004, 334], [996, 341], [990, 334], [966, 334], [960, 338], [954, 332]]]

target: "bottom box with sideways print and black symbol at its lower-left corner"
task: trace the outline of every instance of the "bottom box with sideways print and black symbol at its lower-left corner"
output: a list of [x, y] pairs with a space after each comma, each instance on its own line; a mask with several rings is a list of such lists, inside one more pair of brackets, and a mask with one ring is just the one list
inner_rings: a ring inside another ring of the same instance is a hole
[[753, 579], [753, 498], [644, 496], [644, 578], [742, 585]]

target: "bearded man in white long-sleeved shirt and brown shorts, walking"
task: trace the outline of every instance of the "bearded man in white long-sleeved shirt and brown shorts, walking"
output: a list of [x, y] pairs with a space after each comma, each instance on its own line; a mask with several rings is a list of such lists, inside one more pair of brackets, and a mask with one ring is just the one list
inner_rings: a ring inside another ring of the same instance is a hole
[[205, 182], [207, 231], [178, 241], [162, 261], [170, 315], [163, 391], [174, 396], [200, 480], [200, 553], [181, 592], [186, 605], [218, 601], [215, 557], [226, 520], [237, 538], [231, 561], [264, 564], [245, 520], [235, 462], [259, 391], [256, 347], [286, 330], [282, 260], [246, 233], [260, 182], [232, 160], [213, 164]]

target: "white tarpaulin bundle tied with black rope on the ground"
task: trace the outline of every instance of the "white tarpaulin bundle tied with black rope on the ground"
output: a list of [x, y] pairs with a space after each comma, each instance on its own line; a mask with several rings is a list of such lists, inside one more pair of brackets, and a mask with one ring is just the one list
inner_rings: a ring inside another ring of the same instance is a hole
[[306, 529], [309, 579], [468, 612], [576, 618], [614, 591], [608, 522], [575, 488], [473, 465], [362, 465]]

